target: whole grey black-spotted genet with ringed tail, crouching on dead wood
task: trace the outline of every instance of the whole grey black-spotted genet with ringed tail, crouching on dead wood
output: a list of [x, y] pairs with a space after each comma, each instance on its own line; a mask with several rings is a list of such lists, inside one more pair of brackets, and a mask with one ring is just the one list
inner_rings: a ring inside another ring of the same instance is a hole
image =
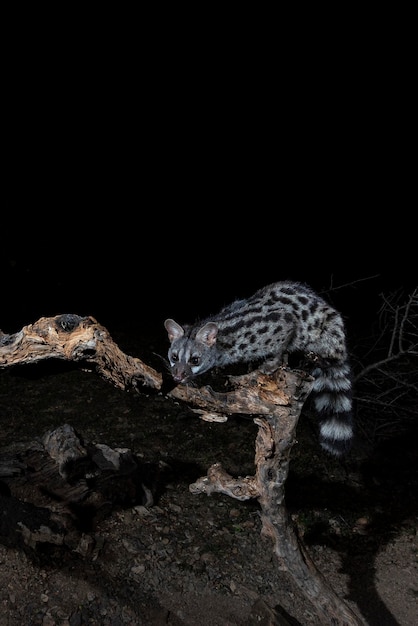
[[165, 320], [173, 379], [185, 383], [213, 367], [262, 363], [271, 373], [295, 352], [314, 361], [313, 405], [322, 447], [339, 456], [353, 439], [351, 371], [343, 319], [310, 287], [283, 281], [237, 300], [191, 326]]

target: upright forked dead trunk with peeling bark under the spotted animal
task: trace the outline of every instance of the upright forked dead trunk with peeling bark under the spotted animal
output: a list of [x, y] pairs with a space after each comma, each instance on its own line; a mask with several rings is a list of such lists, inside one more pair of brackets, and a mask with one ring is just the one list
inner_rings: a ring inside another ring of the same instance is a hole
[[180, 385], [170, 395], [199, 407], [208, 406], [211, 416], [214, 411], [255, 415], [254, 422], [258, 425], [255, 475], [234, 478], [220, 463], [215, 463], [206, 476], [190, 485], [191, 493], [219, 492], [237, 500], [257, 498], [263, 535], [272, 540], [280, 567], [311, 601], [321, 621], [336, 626], [363, 624], [317, 570], [298, 538], [285, 505], [285, 483], [296, 426], [311, 391], [312, 379], [302, 372], [281, 369], [268, 377], [252, 372], [231, 380], [236, 389], [227, 394], [216, 393], [209, 387]]

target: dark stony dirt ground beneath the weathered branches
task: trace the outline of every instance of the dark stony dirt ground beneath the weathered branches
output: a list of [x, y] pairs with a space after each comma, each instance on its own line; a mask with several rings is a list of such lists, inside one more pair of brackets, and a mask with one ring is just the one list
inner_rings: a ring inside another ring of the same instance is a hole
[[[161, 371], [163, 336], [109, 330]], [[129, 449], [148, 468], [146, 488], [102, 513], [76, 548], [22, 547], [3, 531], [1, 626], [320, 626], [261, 535], [258, 503], [189, 489], [216, 461], [253, 473], [252, 420], [203, 422], [164, 393], [124, 392], [72, 364], [0, 373], [0, 459], [23, 463], [63, 424], [85, 442]], [[309, 412], [298, 426], [287, 506], [318, 569], [370, 626], [418, 623], [417, 444], [417, 429], [375, 446], [360, 431], [337, 461], [320, 450]], [[0, 480], [6, 498], [9, 483]], [[38, 499], [34, 486], [23, 504]]]

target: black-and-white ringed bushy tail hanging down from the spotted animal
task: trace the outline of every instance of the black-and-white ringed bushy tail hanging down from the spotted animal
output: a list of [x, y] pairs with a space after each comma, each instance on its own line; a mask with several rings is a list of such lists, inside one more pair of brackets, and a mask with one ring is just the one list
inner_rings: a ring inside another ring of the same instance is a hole
[[351, 371], [347, 362], [334, 361], [312, 371], [312, 400], [320, 420], [319, 442], [334, 456], [346, 454], [352, 444]]

